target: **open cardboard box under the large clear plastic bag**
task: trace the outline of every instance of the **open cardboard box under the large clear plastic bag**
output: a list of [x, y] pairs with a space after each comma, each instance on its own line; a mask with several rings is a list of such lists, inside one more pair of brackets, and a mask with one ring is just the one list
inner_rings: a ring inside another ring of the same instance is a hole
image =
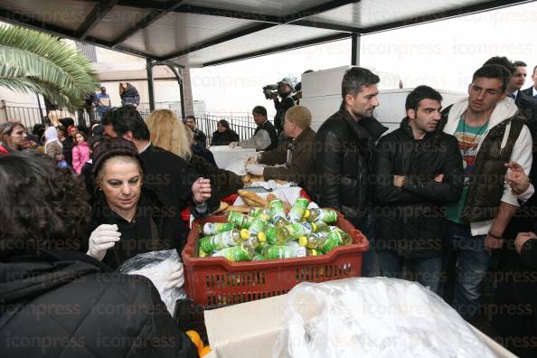
[[[212, 357], [271, 358], [283, 326], [287, 295], [205, 311], [205, 326]], [[500, 358], [516, 358], [500, 344], [472, 327], [477, 336]]]

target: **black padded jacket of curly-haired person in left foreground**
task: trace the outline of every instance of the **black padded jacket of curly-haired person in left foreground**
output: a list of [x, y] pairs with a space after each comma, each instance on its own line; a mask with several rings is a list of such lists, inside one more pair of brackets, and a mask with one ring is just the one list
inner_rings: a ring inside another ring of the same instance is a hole
[[197, 356], [149, 279], [78, 252], [1, 261], [0, 309], [3, 358]]

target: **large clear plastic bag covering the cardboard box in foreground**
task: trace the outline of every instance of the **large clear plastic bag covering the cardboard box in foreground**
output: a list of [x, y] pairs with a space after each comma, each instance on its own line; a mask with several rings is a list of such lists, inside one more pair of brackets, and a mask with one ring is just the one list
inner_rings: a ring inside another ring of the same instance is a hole
[[301, 283], [283, 322], [274, 357], [495, 357], [442, 298], [402, 279]]

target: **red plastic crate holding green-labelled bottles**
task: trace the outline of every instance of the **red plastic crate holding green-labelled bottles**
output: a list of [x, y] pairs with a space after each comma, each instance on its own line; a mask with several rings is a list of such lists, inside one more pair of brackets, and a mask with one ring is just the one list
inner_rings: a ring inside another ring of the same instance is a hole
[[199, 258], [200, 225], [226, 221], [212, 216], [193, 222], [183, 250], [186, 295], [202, 306], [232, 305], [287, 293], [300, 282], [325, 282], [362, 275], [363, 252], [369, 242], [361, 231], [339, 214], [336, 225], [353, 238], [325, 255], [298, 259], [231, 262], [224, 258]]

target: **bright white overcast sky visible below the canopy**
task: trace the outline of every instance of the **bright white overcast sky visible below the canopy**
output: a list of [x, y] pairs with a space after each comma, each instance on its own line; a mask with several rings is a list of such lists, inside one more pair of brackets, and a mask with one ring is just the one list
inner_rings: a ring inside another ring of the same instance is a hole
[[[428, 84], [466, 91], [472, 73], [491, 56], [537, 64], [537, 2], [362, 37], [361, 65], [397, 72], [405, 87]], [[264, 105], [261, 88], [287, 75], [351, 62], [351, 41], [331, 42], [256, 59], [191, 70], [193, 99], [208, 111], [248, 112]], [[532, 85], [528, 77], [526, 86]], [[334, 108], [335, 110], [335, 108]]]

